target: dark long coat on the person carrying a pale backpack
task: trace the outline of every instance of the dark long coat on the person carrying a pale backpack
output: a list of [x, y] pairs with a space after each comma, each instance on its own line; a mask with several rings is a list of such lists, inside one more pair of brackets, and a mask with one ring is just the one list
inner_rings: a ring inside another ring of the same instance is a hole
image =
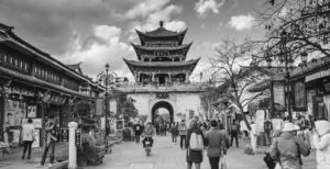
[[202, 150], [193, 150], [189, 148], [191, 133], [200, 134], [202, 136], [204, 144], [206, 144], [205, 136], [202, 134], [202, 131], [199, 127], [189, 128], [187, 132], [187, 137], [186, 137], [187, 138], [186, 139], [186, 148], [187, 148], [186, 160], [187, 160], [187, 162], [200, 164], [200, 162], [202, 162]]

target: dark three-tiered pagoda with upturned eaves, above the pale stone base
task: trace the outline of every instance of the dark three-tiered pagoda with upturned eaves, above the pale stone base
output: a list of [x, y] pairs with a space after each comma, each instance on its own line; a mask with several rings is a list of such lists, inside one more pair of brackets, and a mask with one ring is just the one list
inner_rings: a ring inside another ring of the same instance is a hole
[[168, 31], [160, 22], [160, 27], [151, 32], [140, 32], [141, 45], [132, 43], [139, 61], [127, 60], [127, 65], [139, 84], [170, 86], [187, 83], [198, 59], [186, 60], [193, 43], [183, 44], [187, 29], [182, 32]]

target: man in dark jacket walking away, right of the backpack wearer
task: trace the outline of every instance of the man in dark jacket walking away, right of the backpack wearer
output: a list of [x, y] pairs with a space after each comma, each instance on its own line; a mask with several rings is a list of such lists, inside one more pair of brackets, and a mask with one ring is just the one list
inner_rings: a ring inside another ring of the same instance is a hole
[[206, 133], [207, 155], [211, 169], [219, 169], [220, 157], [227, 154], [229, 145], [229, 135], [226, 131], [218, 129], [218, 122], [210, 122], [211, 128]]

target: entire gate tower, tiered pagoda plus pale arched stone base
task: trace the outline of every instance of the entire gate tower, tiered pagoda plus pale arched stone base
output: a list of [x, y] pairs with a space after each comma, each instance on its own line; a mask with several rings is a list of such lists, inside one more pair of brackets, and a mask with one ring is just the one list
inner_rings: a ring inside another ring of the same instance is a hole
[[180, 121], [202, 114], [200, 93], [206, 87], [189, 82], [189, 76], [198, 59], [187, 60], [191, 43], [183, 44], [187, 30], [168, 31], [160, 22], [160, 27], [151, 32], [140, 32], [141, 45], [132, 44], [138, 60], [127, 60], [135, 77], [135, 84], [121, 86], [120, 90], [134, 99], [139, 114], [147, 115], [155, 122], [157, 110], [167, 109], [170, 121]]

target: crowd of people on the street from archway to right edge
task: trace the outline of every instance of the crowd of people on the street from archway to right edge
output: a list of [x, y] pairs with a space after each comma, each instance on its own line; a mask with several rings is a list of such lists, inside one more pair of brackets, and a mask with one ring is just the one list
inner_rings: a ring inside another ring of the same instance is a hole
[[[252, 154], [256, 153], [257, 140], [261, 140], [261, 137], [265, 138], [265, 146], [270, 146], [264, 158], [268, 168], [300, 169], [304, 166], [301, 156], [309, 156], [312, 150], [316, 151], [317, 169], [330, 168], [330, 123], [328, 121], [314, 122], [312, 119], [302, 115], [298, 115], [294, 122], [288, 117], [275, 117], [264, 121], [262, 132], [253, 121], [249, 123], [250, 129], [244, 121], [235, 120], [227, 127], [219, 120], [202, 123], [194, 119], [189, 123], [182, 121], [165, 124], [168, 124], [165, 133], [170, 133], [174, 144], [179, 137], [179, 146], [186, 150], [188, 169], [194, 165], [196, 169], [200, 168], [205, 148], [211, 169], [219, 169], [219, 166], [226, 165], [228, 148], [240, 146], [240, 135], [248, 140]], [[141, 135], [153, 137], [157, 134], [151, 123], [145, 127], [138, 123], [133, 128], [136, 143], [140, 142]], [[164, 135], [161, 133], [158, 135]]]

